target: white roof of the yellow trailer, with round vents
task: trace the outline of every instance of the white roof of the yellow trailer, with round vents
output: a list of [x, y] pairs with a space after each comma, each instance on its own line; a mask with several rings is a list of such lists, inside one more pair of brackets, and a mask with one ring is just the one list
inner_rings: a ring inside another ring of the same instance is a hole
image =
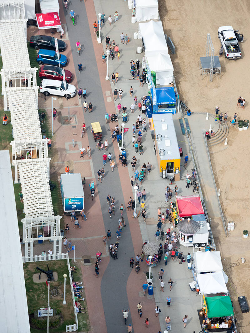
[[162, 136], [162, 141], [157, 141], [158, 149], [164, 149], [165, 155], [161, 156], [161, 160], [179, 160], [180, 151], [176, 138], [175, 127], [172, 114], [152, 115], [155, 136]]

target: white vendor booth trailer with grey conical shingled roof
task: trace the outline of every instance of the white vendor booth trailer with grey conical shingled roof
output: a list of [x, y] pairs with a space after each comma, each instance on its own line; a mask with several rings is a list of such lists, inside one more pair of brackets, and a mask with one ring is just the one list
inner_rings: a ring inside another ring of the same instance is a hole
[[189, 247], [204, 247], [208, 244], [208, 227], [206, 221], [194, 221], [190, 218], [178, 223], [179, 242]]

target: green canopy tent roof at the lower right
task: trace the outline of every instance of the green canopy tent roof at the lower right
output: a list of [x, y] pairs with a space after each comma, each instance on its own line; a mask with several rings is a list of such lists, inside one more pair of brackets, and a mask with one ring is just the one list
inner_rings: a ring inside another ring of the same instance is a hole
[[229, 296], [203, 297], [208, 318], [233, 316], [233, 306]]

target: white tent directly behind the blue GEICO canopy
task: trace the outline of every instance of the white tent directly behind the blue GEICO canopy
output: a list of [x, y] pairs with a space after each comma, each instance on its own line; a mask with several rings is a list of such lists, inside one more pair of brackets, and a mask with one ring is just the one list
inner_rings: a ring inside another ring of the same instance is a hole
[[151, 71], [156, 73], [156, 84], [164, 86], [173, 82], [174, 67], [168, 53], [149, 53], [147, 55]]

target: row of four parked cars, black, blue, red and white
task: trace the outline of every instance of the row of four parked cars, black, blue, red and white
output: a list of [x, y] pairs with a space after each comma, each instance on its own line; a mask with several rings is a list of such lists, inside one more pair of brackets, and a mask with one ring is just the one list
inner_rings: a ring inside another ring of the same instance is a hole
[[[57, 95], [64, 96], [69, 99], [76, 94], [76, 87], [69, 84], [72, 81], [73, 75], [70, 71], [65, 70], [65, 81], [63, 83], [63, 70], [68, 63], [68, 58], [59, 54], [59, 59], [56, 53], [55, 38], [50, 36], [31, 36], [30, 46], [36, 50], [40, 49], [36, 58], [39, 65], [39, 77], [42, 79], [40, 83], [40, 92], [45, 96]], [[58, 50], [63, 52], [66, 50], [66, 43], [58, 40]]]

